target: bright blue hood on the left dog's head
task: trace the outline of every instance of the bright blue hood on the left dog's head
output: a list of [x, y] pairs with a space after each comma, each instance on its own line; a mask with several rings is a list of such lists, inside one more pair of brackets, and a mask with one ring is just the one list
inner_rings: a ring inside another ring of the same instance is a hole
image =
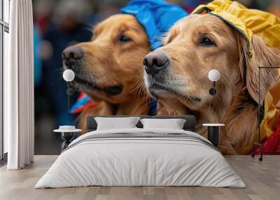
[[162, 0], [132, 0], [121, 12], [134, 15], [144, 26], [152, 50], [160, 48], [160, 37], [164, 36], [176, 21], [188, 15], [180, 6]]

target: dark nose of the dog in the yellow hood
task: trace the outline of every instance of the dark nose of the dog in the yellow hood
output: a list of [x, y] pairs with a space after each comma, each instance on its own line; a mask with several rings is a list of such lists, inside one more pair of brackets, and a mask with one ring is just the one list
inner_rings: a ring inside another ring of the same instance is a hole
[[155, 75], [160, 70], [165, 69], [169, 64], [168, 57], [163, 52], [151, 52], [144, 58], [143, 64], [146, 73]]

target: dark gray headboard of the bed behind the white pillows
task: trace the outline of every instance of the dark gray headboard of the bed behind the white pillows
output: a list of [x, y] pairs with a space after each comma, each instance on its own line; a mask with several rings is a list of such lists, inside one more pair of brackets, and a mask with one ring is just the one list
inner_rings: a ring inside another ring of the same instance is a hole
[[[195, 132], [196, 119], [194, 115], [180, 115], [180, 116], [146, 116], [146, 115], [113, 115], [113, 116], [89, 116], [87, 117], [87, 132], [95, 131], [97, 129], [97, 122], [94, 117], [141, 117], [141, 118], [152, 118], [152, 119], [184, 119], [186, 120], [183, 129], [186, 131]], [[136, 126], [138, 128], [143, 128], [143, 124], [139, 121]]]

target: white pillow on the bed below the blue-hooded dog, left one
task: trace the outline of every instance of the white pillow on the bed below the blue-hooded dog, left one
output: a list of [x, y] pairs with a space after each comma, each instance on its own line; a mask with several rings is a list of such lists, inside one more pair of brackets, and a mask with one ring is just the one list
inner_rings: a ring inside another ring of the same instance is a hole
[[137, 128], [135, 125], [139, 119], [140, 117], [94, 117], [97, 130]]

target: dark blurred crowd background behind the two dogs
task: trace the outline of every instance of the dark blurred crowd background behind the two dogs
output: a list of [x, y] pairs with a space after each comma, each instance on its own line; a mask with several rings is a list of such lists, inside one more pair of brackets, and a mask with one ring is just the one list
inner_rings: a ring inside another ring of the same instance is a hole
[[[66, 83], [62, 80], [62, 50], [89, 41], [92, 27], [120, 8], [127, 0], [34, 0], [35, 154], [57, 155], [62, 143], [52, 130], [75, 124], [68, 113]], [[170, 0], [189, 13], [207, 0]], [[280, 17], [280, 0], [239, 0], [248, 8], [267, 10]], [[71, 96], [74, 103], [77, 94]]]

